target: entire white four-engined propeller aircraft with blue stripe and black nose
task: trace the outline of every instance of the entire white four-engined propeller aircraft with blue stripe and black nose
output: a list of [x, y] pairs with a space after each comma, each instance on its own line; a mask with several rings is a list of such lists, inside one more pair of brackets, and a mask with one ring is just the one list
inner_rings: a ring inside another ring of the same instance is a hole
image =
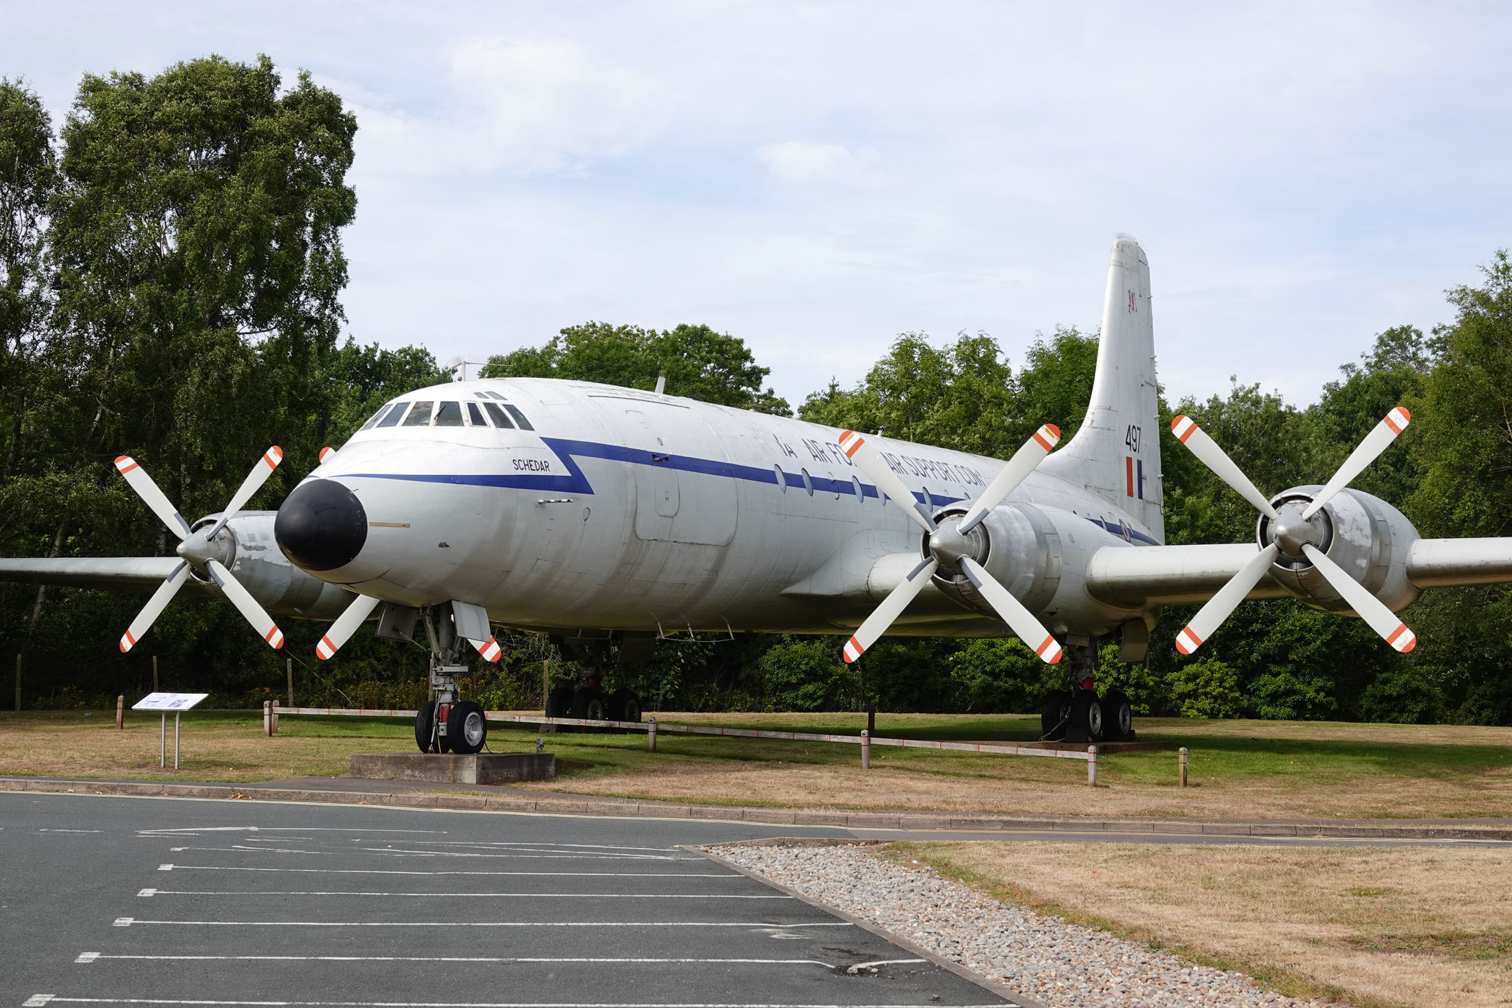
[[[1164, 546], [1149, 266], [1128, 237], [1108, 263], [1086, 420], [1060, 450], [1045, 425], [1009, 461], [803, 420], [579, 381], [461, 381], [398, 396], [277, 512], [242, 511], [278, 465], [254, 465], [225, 511], [186, 521], [133, 459], [116, 467], [181, 541], [171, 558], [9, 559], [0, 577], [157, 585], [129, 650], [184, 585], [225, 595], [272, 645], [271, 614], [333, 620], [328, 659], [366, 621], [431, 648], [425, 751], [478, 751], [487, 722], [458, 697], [469, 644], [493, 626], [550, 633], [590, 665], [697, 633], [830, 633], [847, 662], [885, 633], [1015, 633], [1066, 689], [1049, 739], [1132, 736], [1128, 698], [1095, 689], [1095, 644], [1145, 659], [1161, 606], [1207, 604], [1191, 653], [1246, 598], [1358, 615], [1399, 651], [1396, 612], [1423, 588], [1512, 580], [1512, 538], [1423, 540], [1390, 503], [1349, 490], [1411, 422], [1393, 410], [1323, 485], [1267, 497], [1191, 422], [1172, 429], [1259, 512], [1255, 543]], [[549, 715], [640, 719], [599, 674]]]

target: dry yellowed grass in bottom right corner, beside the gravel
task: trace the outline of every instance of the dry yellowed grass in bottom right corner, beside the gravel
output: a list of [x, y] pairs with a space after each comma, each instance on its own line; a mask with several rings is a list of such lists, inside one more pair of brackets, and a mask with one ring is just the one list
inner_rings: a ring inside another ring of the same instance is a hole
[[894, 855], [1288, 993], [1512, 1003], [1507, 851], [980, 842]]

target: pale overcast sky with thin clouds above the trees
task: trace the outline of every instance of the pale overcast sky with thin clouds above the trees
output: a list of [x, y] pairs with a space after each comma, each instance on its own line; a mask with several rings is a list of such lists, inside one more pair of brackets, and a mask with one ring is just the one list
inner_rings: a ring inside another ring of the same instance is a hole
[[[895, 334], [1092, 329], [1151, 261], [1167, 394], [1311, 402], [1512, 245], [1486, 3], [26, 3], [0, 76], [268, 53], [358, 118], [352, 334], [744, 337], [797, 405]], [[674, 391], [674, 390], [673, 390]]]

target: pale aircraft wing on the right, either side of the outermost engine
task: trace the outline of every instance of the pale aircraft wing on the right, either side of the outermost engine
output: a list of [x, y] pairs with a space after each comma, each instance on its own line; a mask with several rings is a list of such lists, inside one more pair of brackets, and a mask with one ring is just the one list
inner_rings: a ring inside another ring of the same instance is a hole
[[[1253, 543], [1214, 546], [1108, 547], [1087, 564], [1087, 591], [1134, 609], [1181, 606], [1211, 598], [1259, 550]], [[1408, 580], [1418, 588], [1512, 582], [1512, 538], [1415, 540], [1406, 555]], [[1285, 598], [1266, 574], [1246, 598]]]

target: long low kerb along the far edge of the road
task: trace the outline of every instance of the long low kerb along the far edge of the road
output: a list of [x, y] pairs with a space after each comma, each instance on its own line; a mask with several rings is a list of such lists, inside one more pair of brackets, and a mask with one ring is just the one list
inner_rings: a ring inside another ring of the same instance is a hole
[[437, 792], [354, 792], [257, 784], [177, 784], [172, 781], [92, 781], [68, 778], [3, 777], [0, 790], [127, 795], [144, 798], [210, 798], [251, 801], [307, 801], [399, 809], [460, 809], [475, 812], [538, 812], [578, 816], [650, 816], [661, 819], [721, 819], [764, 825], [839, 827], [847, 830], [948, 830], [971, 833], [1161, 833], [1211, 837], [1297, 837], [1337, 840], [1512, 840], [1512, 824], [1285, 822], [1080, 816], [962, 816], [878, 813], [829, 809], [756, 809], [656, 801], [570, 798], [514, 798]]

